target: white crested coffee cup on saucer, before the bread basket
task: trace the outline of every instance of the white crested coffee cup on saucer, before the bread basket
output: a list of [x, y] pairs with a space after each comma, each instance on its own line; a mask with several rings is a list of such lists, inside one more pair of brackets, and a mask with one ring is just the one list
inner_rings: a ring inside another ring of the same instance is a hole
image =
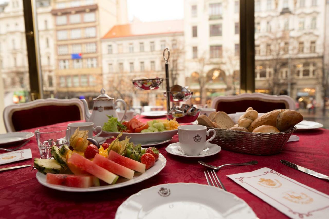
[[[213, 136], [206, 141], [206, 135], [209, 136], [213, 132]], [[206, 143], [215, 138], [216, 131], [201, 125], [182, 125], [178, 126], [178, 140], [184, 151], [189, 156], [200, 155], [205, 149]]]

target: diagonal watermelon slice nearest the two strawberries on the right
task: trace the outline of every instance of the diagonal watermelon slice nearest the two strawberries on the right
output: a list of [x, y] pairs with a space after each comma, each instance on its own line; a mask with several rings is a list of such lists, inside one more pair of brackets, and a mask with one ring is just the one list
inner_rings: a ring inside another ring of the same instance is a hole
[[122, 166], [125, 166], [131, 170], [135, 170], [140, 173], [145, 172], [145, 164], [140, 163], [140, 162], [130, 159], [130, 158], [123, 157], [122, 155], [119, 155], [115, 151], [110, 151], [108, 158], [109, 158], [109, 160], [112, 160], [112, 161], [114, 161]]

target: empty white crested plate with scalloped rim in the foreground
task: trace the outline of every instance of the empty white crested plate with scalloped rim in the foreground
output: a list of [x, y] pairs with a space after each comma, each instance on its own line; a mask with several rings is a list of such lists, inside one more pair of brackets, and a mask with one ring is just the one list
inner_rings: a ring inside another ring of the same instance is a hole
[[140, 190], [117, 209], [115, 219], [257, 218], [233, 193], [197, 183], [167, 183]]

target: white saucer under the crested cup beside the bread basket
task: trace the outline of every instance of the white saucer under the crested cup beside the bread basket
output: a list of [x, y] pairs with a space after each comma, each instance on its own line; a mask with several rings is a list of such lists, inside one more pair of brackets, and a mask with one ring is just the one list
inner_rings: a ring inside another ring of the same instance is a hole
[[203, 157], [208, 157], [208, 156], [211, 156], [211, 155], [214, 155], [214, 154], [217, 154], [218, 152], [220, 152], [220, 146], [218, 146], [216, 144], [207, 143], [206, 147], [207, 148], [205, 150], [201, 151], [200, 155], [195, 155], [195, 156], [190, 156], [190, 155], [184, 154], [182, 148], [179, 146], [179, 142], [169, 144], [165, 148], [165, 150], [169, 154], [173, 154], [173, 155], [177, 155], [177, 156], [181, 156], [181, 157], [187, 157], [187, 158], [203, 158]]

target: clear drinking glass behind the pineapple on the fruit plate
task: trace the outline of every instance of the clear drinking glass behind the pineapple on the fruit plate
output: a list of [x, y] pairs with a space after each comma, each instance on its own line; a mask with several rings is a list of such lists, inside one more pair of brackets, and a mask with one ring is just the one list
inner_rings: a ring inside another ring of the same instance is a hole
[[51, 158], [51, 147], [53, 145], [59, 148], [64, 144], [69, 146], [70, 127], [58, 126], [42, 128], [36, 130], [35, 134], [42, 159]]

